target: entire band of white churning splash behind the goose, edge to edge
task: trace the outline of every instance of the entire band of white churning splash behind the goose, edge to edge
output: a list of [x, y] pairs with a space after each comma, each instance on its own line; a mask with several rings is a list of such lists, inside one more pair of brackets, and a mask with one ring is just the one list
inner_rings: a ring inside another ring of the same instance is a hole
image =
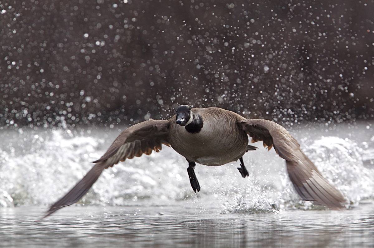
[[[107, 145], [92, 135], [66, 135], [50, 131], [34, 135], [32, 148], [20, 153], [0, 150], [0, 206], [49, 205], [64, 195], [92, 167]], [[27, 145], [25, 141], [25, 145]], [[323, 137], [303, 145], [309, 158], [351, 205], [373, 198], [373, 169], [364, 167], [359, 148], [349, 139]], [[300, 200], [285, 170], [284, 160], [273, 151], [249, 152], [245, 163], [249, 178], [241, 178], [237, 163], [196, 166], [202, 191], [190, 188], [183, 157], [171, 148], [126, 160], [105, 170], [82, 204], [128, 205], [148, 199], [151, 204], [190, 201], [208, 204], [213, 199], [221, 213], [262, 213], [287, 209], [318, 209]], [[191, 200], [189, 200], [191, 199]], [[205, 200], [204, 200], [205, 199]]]

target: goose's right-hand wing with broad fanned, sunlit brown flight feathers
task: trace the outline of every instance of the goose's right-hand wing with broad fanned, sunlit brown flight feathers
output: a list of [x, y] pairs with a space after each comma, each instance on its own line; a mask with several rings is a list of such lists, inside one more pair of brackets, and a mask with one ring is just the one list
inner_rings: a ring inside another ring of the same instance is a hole
[[269, 150], [286, 160], [287, 171], [295, 190], [305, 201], [330, 208], [342, 208], [344, 197], [318, 171], [317, 167], [300, 150], [300, 145], [281, 125], [264, 119], [239, 120], [252, 142], [263, 141]]

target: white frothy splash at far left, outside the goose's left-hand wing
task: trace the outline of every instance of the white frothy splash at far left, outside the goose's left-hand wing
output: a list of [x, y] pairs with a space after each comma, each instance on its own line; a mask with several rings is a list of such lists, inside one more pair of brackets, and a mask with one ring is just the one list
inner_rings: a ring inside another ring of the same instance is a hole
[[29, 153], [1, 157], [0, 190], [11, 196], [1, 205], [49, 203], [52, 192], [63, 192], [61, 185], [73, 185], [84, 175], [86, 168], [82, 169], [82, 165], [97, 156], [99, 141], [91, 137], [66, 138], [63, 134], [52, 131], [47, 140], [34, 135]]

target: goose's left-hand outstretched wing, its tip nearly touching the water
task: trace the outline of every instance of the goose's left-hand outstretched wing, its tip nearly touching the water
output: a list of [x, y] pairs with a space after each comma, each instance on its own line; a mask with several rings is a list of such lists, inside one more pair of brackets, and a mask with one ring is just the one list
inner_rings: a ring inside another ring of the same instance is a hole
[[107, 152], [94, 161], [95, 166], [64, 197], [53, 204], [44, 217], [60, 208], [79, 201], [101, 175], [101, 172], [126, 158], [159, 152], [162, 144], [169, 145], [169, 121], [147, 120], [124, 130], [111, 144]]

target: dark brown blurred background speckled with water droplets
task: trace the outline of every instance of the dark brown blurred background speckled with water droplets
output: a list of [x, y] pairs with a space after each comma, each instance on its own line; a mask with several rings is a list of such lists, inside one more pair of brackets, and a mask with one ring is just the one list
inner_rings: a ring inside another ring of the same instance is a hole
[[373, 1], [0, 1], [0, 124], [373, 119]]

